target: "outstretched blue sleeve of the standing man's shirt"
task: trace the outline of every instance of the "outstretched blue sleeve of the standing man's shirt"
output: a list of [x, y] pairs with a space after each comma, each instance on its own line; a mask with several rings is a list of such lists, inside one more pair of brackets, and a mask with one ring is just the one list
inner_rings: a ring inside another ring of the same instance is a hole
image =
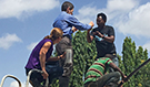
[[77, 28], [78, 30], [91, 29], [91, 25], [79, 22], [73, 15], [70, 15], [67, 21], [70, 25]]

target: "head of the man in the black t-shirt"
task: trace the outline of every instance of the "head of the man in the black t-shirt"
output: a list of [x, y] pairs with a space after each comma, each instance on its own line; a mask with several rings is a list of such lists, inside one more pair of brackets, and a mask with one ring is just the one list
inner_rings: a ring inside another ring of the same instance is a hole
[[107, 15], [104, 13], [97, 14], [97, 24], [99, 28], [104, 26], [107, 22]]

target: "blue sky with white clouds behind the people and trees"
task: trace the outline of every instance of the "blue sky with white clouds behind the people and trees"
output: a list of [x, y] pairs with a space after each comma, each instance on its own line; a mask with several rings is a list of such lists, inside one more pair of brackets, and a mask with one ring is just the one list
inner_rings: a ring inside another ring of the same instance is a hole
[[[17, 76], [24, 87], [24, 65], [31, 50], [52, 29], [64, 0], [0, 0], [0, 80], [7, 74]], [[74, 4], [74, 17], [96, 23], [96, 15], [104, 12], [108, 25], [116, 31], [116, 46], [121, 55], [126, 36], [150, 53], [149, 0], [69, 0]], [[94, 25], [94, 28], [97, 24]], [[18, 87], [7, 78], [3, 87]]]

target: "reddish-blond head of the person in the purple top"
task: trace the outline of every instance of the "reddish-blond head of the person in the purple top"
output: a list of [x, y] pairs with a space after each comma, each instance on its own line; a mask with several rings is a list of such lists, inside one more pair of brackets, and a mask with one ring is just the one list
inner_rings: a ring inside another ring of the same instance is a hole
[[44, 39], [50, 39], [56, 44], [61, 41], [62, 34], [63, 34], [63, 32], [61, 29], [53, 28], [50, 32], [50, 35], [47, 35]]

